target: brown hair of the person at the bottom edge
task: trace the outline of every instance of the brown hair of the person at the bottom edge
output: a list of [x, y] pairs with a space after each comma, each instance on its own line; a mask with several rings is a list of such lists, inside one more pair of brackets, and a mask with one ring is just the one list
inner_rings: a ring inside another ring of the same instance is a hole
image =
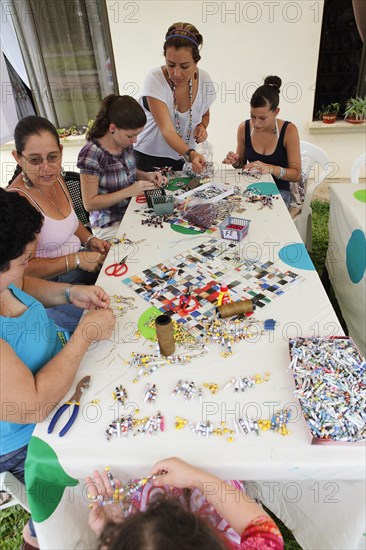
[[99, 548], [227, 550], [229, 545], [208, 521], [183, 508], [176, 497], [159, 494], [145, 512], [133, 513], [121, 524], [107, 525]]

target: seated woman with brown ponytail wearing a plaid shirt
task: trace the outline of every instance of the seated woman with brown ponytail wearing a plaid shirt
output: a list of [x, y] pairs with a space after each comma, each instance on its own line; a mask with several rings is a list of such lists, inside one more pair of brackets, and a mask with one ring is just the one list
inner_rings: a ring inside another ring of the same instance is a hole
[[79, 153], [81, 192], [94, 235], [113, 238], [131, 197], [163, 183], [160, 172], [136, 170], [133, 144], [146, 123], [144, 110], [130, 96], [103, 99], [88, 143]]

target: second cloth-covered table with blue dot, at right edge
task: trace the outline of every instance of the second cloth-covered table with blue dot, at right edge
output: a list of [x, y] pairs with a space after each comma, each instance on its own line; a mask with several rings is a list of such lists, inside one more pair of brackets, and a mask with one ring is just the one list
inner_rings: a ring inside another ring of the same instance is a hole
[[366, 355], [366, 188], [330, 186], [326, 267], [350, 336]]

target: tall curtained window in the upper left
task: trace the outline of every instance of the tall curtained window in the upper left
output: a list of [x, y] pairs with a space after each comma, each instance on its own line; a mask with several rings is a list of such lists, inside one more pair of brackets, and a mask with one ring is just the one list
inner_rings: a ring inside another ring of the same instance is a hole
[[118, 93], [104, 0], [12, 1], [39, 114], [66, 128], [94, 119]]

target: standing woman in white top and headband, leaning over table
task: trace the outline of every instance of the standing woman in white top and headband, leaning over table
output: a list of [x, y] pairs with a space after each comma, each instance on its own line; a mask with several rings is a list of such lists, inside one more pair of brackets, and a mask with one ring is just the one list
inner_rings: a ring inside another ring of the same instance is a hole
[[141, 170], [181, 170], [185, 161], [197, 173], [204, 169], [205, 158], [194, 147], [207, 139], [215, 93], [211, 77], [198, 68], [202, 43], [190, 23], [174, 23], [166, 33], [165, 65], [149, 73], [140, 100], [147, 117], [135, 147]]

